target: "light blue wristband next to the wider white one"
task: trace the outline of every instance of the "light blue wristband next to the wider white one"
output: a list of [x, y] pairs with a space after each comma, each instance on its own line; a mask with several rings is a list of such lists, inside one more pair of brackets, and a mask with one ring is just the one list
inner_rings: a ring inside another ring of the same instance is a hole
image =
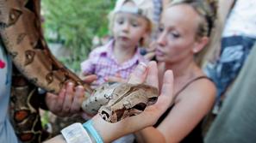
[[83, 126], [96, 140], [97, 143], [103, 143], [102, 137], [100, 136], [100, 134], [97, 133], [97, 130], [93, 127], [91, 120], [84, 122]]

